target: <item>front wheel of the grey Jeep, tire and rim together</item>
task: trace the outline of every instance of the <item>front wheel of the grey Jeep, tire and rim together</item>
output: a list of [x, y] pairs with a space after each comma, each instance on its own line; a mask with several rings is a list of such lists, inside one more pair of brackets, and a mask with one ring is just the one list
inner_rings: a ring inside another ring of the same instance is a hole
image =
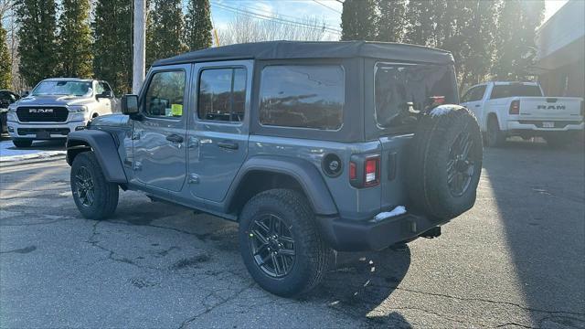
[[108, 218], [118, 207], [118, 185], [106, 181], [93, 152], [75, 157], [70, 180], [73, 199], [84, 218]]

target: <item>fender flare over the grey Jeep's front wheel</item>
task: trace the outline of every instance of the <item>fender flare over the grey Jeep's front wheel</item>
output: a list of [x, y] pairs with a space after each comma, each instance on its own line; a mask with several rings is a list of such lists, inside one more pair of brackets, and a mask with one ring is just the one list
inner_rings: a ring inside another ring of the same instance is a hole
[[67, 163], [73, 163], [74, 150], [89, 145], [100, 163], [103, 175], [108, 182], [128, 183], [118, 154], [118, 146], [112, 134], [99, 130], [82, 130], [71, 132], [67, 136]]

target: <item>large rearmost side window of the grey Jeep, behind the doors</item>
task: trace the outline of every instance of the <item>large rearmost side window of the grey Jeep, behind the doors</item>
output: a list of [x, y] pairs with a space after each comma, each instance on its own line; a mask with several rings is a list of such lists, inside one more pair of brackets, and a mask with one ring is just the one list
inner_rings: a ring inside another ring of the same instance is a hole
[[261, 73], [262, 125], [338, 130], [345, 74], [339, 65], [275, 65]]

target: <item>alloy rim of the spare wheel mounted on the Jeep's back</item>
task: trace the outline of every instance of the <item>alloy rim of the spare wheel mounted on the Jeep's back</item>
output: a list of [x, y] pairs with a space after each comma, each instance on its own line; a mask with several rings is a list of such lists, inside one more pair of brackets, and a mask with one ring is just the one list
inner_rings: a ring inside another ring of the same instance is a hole
[[447, 162], [447, 184], [452, 196], [463, 196], [475, 173], [473, 162], [473, 139], [467, 132], [460, 133], [452, 143]]

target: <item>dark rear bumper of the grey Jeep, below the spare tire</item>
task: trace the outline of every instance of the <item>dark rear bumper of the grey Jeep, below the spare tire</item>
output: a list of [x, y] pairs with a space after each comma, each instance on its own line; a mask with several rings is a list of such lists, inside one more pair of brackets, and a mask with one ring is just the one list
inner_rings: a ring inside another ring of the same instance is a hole
[[325, 241], [337, 251], [385, 249], [398, 242], [416, 239], [431, 228], [448, 221], [409, 213], [381, 221], [317, 218]]

